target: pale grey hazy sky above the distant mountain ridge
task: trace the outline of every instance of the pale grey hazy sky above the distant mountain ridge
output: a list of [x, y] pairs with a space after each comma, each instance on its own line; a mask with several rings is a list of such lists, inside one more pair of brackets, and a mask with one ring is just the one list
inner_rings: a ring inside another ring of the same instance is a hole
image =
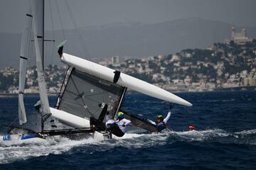
[[[256, 26], [255, 0], [67, 0], [79, 27], [108, 23], [161, 23], [178, 18], [199, 17], [233, 23], [236, 26]], [[46, 25], [58, 20], [56, 2], [62, 18], [68, 17], [65, 0], [46, 0]], [[0, 32], [21, 33], [28, 0], [1, 0]], [[72, 28], [70, 18], [63, 21]], [[55, 27], [60, 25], [55, 23]]]

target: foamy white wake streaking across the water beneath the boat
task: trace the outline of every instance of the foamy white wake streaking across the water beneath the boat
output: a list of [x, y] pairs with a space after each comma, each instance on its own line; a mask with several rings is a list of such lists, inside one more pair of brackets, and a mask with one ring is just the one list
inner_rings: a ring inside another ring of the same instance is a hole
[[0, 147], [0, 164], [26, 160], [32, 157], [48, 156], [48, 154], [63, 154], [73, 149], [86, 147], [83, 152], [103, 152], [114, 147], [154, 147], [171, 145], [174, 142], [220, 142], [225, 144], [256, 145], [256, 129], [241, 132], [226, 132], [221, 129], [176, 132], [166, 134], [125, 134], [124, 137], [97, 142], [92, 137], [84, 140], [69, 140], [65, 137], [51, 137], [45, 142], [33, 144]]

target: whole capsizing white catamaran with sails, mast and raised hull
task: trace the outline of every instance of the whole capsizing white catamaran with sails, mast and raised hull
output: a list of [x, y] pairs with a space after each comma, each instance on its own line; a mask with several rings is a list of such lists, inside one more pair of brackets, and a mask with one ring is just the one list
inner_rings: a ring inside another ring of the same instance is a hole
[[[192, 106], [191, 103], [185, 101], [183, 98], [145, 81], [131, 77], [118, 70], [110, 69], [80, 57], [64, 53], [63, 47], [66, 42], [64, 41], [58, 45], [58, 55], [61, 62], [69, 66], [70, 74], [65, 75], [63, 87], [60, 89], [56, 105], [54, 108], [51, 108], [46, 92], [46, 81], [43, 70], [45, 41], [44, 1], [31, 0], [30, 2], [31, 10], [26, 14], [26, 28], [24, 29], [21, 40], [18, 118], [19, 125], [27, 123], [23, 93], [28, 60], [28, 44], [31, 41], [31, 25], [33, 25], [33, 40], [36, 51], [36, 68], [41, 104], [38, 105], [41, 113], [41, 131], [34, 132], [22, 128], [12, 128], [9, 135], [0, 137], [0, 143], [12, 145], [38, 142], [55, 135], [68, 137], [90, 135], [97, 140], [109, 139], [111, 138], [109, 132], [90, 129], [90, 118], [96, 118], [101, 123], [114, 118], [114, 115], [120, 109], [127, 89], [132, 89], [139, 93], [164, 101], [178, 103], [183, 106]], [[132, 121], [132, 125], [148, 132], [157, 132], [156, 127], [145, 118], [125, 112], [124, 115]], [[49, 118], [52, 118], [51, 123], [55, 119], [67, 125], [68, 128], [56, 129], [56, 125], [52, 125], [50, 130], [46, 130], [44, 125]]]

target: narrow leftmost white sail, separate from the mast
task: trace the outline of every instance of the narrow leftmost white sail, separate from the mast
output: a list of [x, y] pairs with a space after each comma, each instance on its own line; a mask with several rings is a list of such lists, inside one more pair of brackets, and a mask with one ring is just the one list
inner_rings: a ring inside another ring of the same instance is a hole
[[26, 23], [23, 30], [21, 38], [21, 52], [20, 52], [20, 66], [19, 66], [19, 79], [18, 79], [18, 119], [19, 125], [23, 125], [27, 122], [26, 111], [23, 101], [23, 93], [25, 89], [25, 80], [26, 80], [26, 66], [28, 60], [28, 46], [31, 40], [31, 8], [28, 13], [26, 13]]

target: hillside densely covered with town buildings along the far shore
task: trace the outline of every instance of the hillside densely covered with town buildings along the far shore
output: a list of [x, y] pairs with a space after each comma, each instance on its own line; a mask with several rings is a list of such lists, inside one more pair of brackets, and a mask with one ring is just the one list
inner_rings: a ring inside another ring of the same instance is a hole
[[[234, 40], [203, 49], [186, 49], [170, 55], [112, 61], [100, 64], [148, 81], [169, 91], [214, 91], [256, 86], [256, 40], [238, 44]], [[242, 42], [240, 42], [242, 43]], [[46, 81], [51, 93], [58, 92], [66, 67], [49, 65]], [[36, 67], [27, 70], [26, 92], [38, 92]], [[18, 93], [18, 70], [0, 71], [0, 91]]]

